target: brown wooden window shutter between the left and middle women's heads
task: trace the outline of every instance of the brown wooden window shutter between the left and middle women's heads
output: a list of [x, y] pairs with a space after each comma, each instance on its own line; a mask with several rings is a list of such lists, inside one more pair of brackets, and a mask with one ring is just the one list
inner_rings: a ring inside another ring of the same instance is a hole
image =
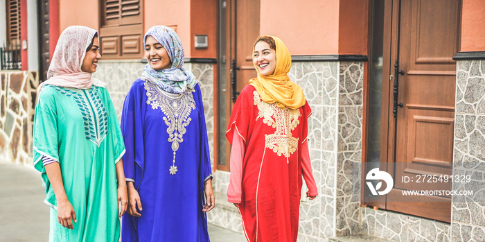
[[141, 58], [143, 0], [100, 0], [103, 58]]

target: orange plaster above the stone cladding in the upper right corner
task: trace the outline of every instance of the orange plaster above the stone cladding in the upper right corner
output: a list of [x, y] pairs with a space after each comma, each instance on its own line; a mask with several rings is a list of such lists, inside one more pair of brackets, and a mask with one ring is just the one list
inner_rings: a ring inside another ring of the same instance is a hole
[[485, 51], [485, 1], [463, 0], [460, 51]]

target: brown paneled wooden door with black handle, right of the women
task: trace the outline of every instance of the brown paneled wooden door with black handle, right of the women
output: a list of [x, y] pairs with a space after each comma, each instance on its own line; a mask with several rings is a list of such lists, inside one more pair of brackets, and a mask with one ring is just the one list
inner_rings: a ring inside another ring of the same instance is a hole
[[[403, 191], [450, 190], [437, 181], [452, 174], [459, 0], [394, 0], [389, 73], [388, 173], [394, 188], [386, 209], [450, 221], [451, 197], [444, 193], [405, 196]], [[397, 20], [397, 21], [396, 21]], [[397, 32], [396, 32], [397, 31]], [[397, 107], [394, 85], [398, 78]], [[400, 105], [402, 103], [402, 105]], [[402, 106], [402, 107], [401, 107]], [[394, 116], [394, 112], [396, 116]], [[409, 177], [409, 180], [403, 180]]]

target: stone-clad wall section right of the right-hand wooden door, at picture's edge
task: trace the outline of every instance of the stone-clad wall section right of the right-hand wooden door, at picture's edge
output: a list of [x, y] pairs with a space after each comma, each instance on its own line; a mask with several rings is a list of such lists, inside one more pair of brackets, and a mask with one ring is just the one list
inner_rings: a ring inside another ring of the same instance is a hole
[[473, 196], [452, 197], [452, 241], [485, 241], [485, 60], [457, 62], [453, 183]]

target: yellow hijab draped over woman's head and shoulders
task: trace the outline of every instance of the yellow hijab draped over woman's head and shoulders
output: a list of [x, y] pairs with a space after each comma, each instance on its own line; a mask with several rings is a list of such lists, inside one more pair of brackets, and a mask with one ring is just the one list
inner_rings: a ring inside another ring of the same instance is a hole
[[276, 68], [272, 75], [261, 76], [258, 67], [254, 64], [253, 55], [253, 64], [258, 71], [258, 77], [249, 80], [249, 85], [256, 89], [265, 103], [276, 103], [278, 107], [291, 109], [302, 107], [306, 102], [303, 90], [299, 85], [293, 83], [287, 75], [291, 69], [290, 51], [278, 37], [266, 36], [272, 37], [276, 42]]

